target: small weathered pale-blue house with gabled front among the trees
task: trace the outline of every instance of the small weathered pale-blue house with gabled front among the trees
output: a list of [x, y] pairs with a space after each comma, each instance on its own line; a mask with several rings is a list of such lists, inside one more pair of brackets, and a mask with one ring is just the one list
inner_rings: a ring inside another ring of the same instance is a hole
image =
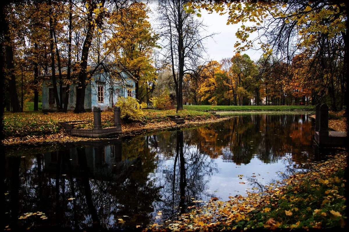
[[[67, 75], [67, 68], [62, 69], [63, 79]], [[86, 111], [92, 111], [96, 106], [101, 110], [112, 108], [118, 102], [119, 97], [135, 97], [135, 78], [122, 65], [89, 66], [87, 75], [90, 76], [85, 90]], [[58, 73], [56, 73], [57, 92], [59, 96]], [[57, 111], [55, 104], [52, 76], [42, 76], [42, 110], [43, 112]], [[73, 77], [74, 78], [74, 77]], [[76, 88], [78, 84], [70, 84], [68, 111], [73, 111], [76, 104]], [[66, 84], [62, 84], [62, 102], [64, 103]]]

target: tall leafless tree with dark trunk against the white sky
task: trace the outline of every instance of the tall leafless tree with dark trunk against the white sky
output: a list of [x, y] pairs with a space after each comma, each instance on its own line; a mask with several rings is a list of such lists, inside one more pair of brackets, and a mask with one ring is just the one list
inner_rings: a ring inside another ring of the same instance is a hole
[[205, 25], [187, 13], [187, 0], [160, 0], [158, 21], [163, 39], [163, 55], [172, 66], [176, 87], [177, 112], [183, 110], [183, 76], [195, 73], [194, 64], [205, 54], [203, 41], [212, 35], [202, 36]]

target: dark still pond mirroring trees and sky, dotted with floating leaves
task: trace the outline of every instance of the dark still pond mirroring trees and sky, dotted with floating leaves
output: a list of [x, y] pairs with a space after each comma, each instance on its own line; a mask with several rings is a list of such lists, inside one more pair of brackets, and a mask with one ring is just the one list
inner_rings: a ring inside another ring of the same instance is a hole
[[193, 200], [259, 191], [325, 159], [313, 145], [312, 126], [305, 114], [243, 115], [156, 134], [19, 149], [6, 156], [5, 220], [11, 229], [141, 229], [185, 212]]

